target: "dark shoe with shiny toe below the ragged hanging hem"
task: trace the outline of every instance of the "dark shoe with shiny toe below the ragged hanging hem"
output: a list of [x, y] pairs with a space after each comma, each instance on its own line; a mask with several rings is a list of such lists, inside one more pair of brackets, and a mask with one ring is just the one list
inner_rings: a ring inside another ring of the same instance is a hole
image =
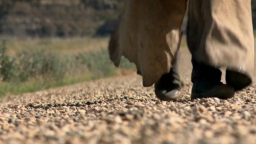
[[156, 97], [165, 101], [178, 100], [182, 95], [182, 85], [178, 73], [171, 71], [164, 74], [154, 84]]

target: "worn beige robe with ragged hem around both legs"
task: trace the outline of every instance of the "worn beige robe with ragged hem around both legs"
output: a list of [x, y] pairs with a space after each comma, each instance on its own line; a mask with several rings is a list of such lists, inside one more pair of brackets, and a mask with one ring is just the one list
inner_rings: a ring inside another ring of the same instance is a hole
[[[110, 60], [137, 66], [143, 86], [172, 68], [179, 49], [186, 0], [129, 0], [109, 43]], [[194, 58], [251, 77], [254, 38], [250, 0], [189, 0], [188, 46]]]

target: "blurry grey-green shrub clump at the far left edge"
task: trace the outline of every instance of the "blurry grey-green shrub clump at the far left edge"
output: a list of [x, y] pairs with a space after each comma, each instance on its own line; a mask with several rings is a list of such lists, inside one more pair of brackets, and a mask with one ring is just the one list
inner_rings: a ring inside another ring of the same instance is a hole
[[44, 50], [6, 55], [6, 44], [0, 45], [0, 78], [4, 82], [25, 82], [29, 78], [44, 81], [61, 80], [66, 74], [66, 60]]

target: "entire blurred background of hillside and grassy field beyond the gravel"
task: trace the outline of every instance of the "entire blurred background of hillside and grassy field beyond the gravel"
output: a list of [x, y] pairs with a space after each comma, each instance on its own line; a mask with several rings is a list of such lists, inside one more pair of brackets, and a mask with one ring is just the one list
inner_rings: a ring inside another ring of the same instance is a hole
[[[115, 68], [107, 51], [125, 2], [0, 0], [0, 96], [133, 72], [126, 59]], [[252, 12], [255, 27], [256, 0]]]

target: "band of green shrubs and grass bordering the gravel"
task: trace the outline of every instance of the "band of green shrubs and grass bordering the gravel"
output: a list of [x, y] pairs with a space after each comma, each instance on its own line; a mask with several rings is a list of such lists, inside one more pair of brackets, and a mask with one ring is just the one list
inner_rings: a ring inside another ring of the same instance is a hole
[[6, 49], [3, 41], [0, 44], [0, 96], [6, 92], [33, 92], [113, 76], [118, 69], [135, 69], [126, 58], [122, 58], [120, 67], [116, 68], [104, 48], [78, 55], [30, 49], [15, 56], [8, 56]]

